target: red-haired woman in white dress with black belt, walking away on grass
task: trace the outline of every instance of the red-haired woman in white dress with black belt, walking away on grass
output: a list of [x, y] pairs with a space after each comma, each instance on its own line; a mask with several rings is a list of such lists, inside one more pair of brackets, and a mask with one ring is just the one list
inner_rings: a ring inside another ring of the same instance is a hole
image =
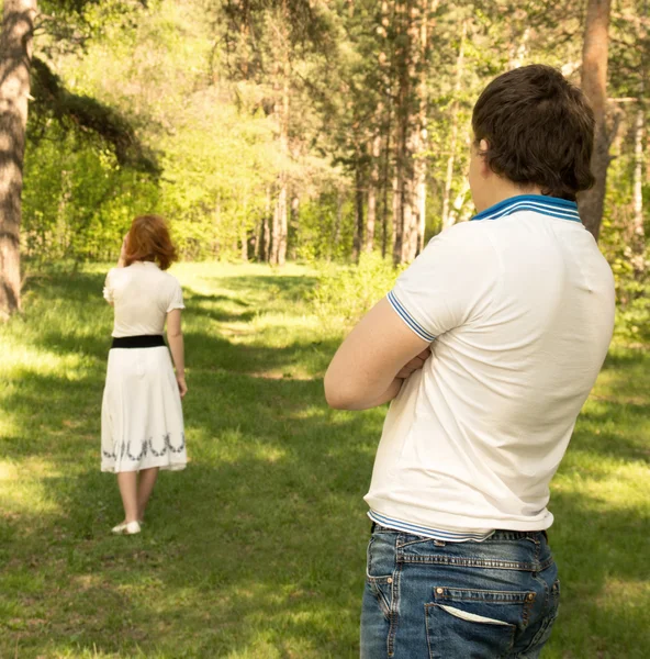
[[[115, 309], [115, 323], [102, 402], [101, 469], [117, 474], [124, 521], [115, 534], [139, 533], [158, 470], [187, 463], [184, 306], [178, 280], [165, 272], [176, 258], [165, 220], [142, 215], [107, 276], [103, 293]], [[162, 338], [166, 321], [176, 376]]]

